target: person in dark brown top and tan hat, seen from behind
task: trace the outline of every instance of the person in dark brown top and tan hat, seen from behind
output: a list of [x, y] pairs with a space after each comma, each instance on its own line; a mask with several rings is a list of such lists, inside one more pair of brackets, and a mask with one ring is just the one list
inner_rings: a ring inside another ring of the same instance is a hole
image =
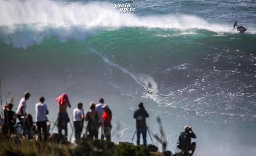
[[86, 113], [85, 121], [88, 121], [86, 130], [89, 132], [89, 139], [98, 139], [99, 113], [95, 111], [95, 104], [90, 103], [90, 111]]

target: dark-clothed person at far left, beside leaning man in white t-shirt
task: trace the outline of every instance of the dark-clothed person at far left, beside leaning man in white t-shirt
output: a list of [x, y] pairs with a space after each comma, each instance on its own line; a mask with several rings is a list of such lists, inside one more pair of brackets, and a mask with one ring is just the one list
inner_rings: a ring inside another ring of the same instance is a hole
[[9, 103], [7, 105], [7, 110], [4, 112], [3, 121], [3, 133], [10, 136], [14, 132], [14, 125], [16, 123], [17, 115], [12, 111], [13, 104]]

